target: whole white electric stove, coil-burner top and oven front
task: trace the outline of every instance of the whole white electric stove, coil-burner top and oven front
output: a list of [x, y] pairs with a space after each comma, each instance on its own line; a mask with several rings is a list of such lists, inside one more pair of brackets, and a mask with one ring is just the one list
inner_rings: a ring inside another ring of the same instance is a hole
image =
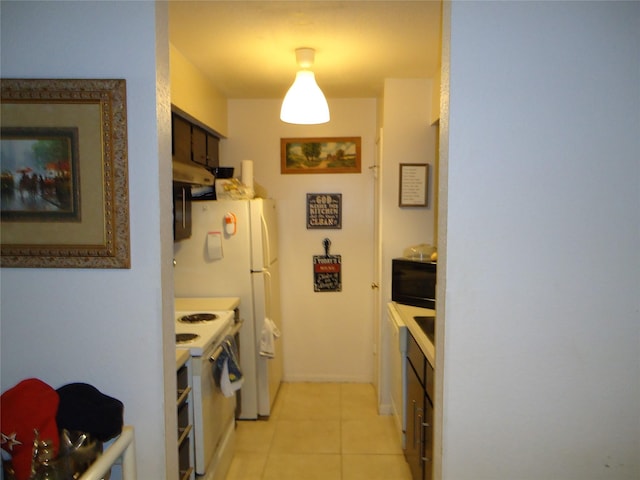
[[195, 473], [222, 480], [233, 457], [236, 397], [223, 395], [214, 372], [239, 325], [233, 311], [176, 310], [175, 317], [177, 347], [191, 355]]

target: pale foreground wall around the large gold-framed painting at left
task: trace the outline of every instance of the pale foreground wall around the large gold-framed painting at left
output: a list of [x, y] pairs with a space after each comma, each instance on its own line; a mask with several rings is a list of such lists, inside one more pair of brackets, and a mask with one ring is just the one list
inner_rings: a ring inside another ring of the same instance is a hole
[[131, 269], [1, 270], [2, 391], [38, 377], [120, 399], [140, 479], [177, 477], [164, 402], [175, 402], [175, 376], [163, 378], [175, 373], [169, 53], [166, 5], [157, 8], [156, 32], [154, 2], [1, 4], [3, 77], [127, 81], [131, 223]]

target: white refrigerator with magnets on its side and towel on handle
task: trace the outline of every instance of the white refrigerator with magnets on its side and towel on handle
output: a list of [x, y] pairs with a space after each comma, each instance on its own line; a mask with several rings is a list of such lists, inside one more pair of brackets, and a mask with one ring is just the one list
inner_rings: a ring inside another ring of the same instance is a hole
[[282, 382], [282, 340], [260, 354], [265, 319], [282, 331], [276, 204], [272, 199], [192, 204], [191, 237], [174, 243], [176, 297], [239, 297], [239, 418], [269, 416]]

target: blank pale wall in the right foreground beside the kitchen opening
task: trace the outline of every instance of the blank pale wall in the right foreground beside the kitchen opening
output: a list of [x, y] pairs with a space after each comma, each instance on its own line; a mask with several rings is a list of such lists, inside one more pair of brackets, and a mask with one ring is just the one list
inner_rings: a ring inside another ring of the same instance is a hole
[[637, 479], [640, 4], [450, 7], [442, 478]]

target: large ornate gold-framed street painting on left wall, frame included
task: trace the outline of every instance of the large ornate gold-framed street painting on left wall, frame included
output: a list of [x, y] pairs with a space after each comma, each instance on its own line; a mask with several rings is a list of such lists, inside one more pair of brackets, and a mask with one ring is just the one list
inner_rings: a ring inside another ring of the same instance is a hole
[[0, 82], [0, 266], [130, 268], [125, 80]]

